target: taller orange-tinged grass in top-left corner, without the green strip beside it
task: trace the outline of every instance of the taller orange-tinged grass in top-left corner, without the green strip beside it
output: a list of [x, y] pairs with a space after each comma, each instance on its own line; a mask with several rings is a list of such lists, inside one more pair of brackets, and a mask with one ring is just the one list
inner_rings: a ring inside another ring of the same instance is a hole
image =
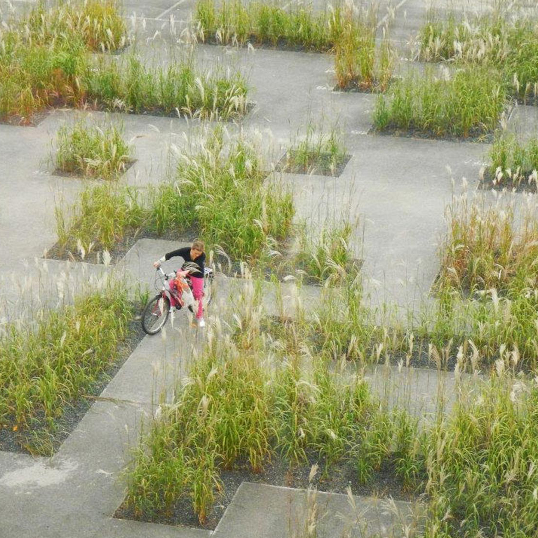
[[126, 43], [114, 2], [34, 7], [0, 31], [0, 119], [29, 121], [55, 103], [80, 104], [88, 51], [112, 51]]

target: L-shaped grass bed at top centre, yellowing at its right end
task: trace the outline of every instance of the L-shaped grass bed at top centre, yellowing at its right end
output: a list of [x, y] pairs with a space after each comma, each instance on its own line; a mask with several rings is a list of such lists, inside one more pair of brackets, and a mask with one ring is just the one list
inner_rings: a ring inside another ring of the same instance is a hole
[[376, 6], [337, 2], [315, 12], [310, 5], [294, 3], [198, 0], [194, 20], [202, 41], [334, 52], [340, 89], [385, 91], [392, 77], [394, 57], [386, 28], [376, 49]]

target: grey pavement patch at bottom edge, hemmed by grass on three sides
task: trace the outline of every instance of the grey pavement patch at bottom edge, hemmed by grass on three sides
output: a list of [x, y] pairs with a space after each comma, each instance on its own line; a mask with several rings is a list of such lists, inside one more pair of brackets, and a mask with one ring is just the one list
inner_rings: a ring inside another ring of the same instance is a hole
[[403, 527], [413, 528], [412, 513], [407, 502], [322, 492], [313, 497], [304, 490], [243, 482], [214, 536], [292, 538], [307, 535], [309, 523], [317, 538], [409, 536]]

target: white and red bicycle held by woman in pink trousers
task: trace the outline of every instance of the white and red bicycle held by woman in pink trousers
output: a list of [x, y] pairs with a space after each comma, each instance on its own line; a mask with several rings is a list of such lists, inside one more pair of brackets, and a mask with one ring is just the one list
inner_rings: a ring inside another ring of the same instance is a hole
[[[188, 308], [194, 314], [194, 295], [190, 279], [183, 276], [179, 277], [179, 287], [171, 285], [176, 280], [178, 271], [165, 273], [162, 268], [157, 267], [155, 272], [154, 286], [159, 292], [150, 299], [144, 307], [141, 324], [142, 329], [148, 335], [157, 334], [168, 320], [168, 315], [172, 308], [181, 310]], [[204, 268], [203, 275], [203, 307], [206, 309], [213, 300], [214, 295], [214, 272], [210, 267]], [[160, 282], [160, 286], [159, 286]], [[160, 287], [160, 289], [159, 289]], [[174, 305], [174, 306], [172, 306]]]

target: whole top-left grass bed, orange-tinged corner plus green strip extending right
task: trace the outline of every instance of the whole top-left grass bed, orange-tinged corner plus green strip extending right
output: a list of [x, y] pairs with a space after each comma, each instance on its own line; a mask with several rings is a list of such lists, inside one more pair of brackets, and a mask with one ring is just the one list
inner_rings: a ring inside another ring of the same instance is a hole
[[125, 44], [115, 9], [107, 2], [40, 5], [0, 31], [0, 121], [30, 123], [36, 112], [65, 104], [224, 119], [244, 114], [247, 88], [239, 73], [203, 72], [189, 59], [148, 68], [136, 52], [118, 61], [91, 54]]

